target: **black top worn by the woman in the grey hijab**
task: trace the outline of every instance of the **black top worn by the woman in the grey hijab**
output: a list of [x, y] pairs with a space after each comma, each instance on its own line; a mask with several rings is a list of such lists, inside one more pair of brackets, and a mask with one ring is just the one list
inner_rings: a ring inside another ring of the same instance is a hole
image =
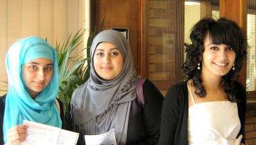
[[[164, 97], [152, 82], [145, 80], [142, 85], [144, 104], [132, 101], [127, 129], [127, 144], [157, 144], [160, 136], [161, 107]], [[70, 108], [65, 114], [66, 129], [72, 129], [73, 119]], [[85, 144], [83, 134], [80, 134], [78, 144]]]

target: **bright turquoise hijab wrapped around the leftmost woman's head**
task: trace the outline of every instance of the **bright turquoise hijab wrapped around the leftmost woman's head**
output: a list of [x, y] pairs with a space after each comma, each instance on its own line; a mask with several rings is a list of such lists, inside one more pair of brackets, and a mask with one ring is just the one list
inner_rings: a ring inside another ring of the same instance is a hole
[[[21, 68], [23, 64], [36, 58], [53, 61], [53, 78], [33, 100], [23, 85]], [[58, 95], [59, 74], [57, 53], [53, 46], [37, 36], [17, 41], [6, 54], [6, 71], [9, 90], [4, 111], [4, 141], [6, 132], [17, 124], [23, 124], [23, 120], [61, 127], [62, 122], [54, 102]]]

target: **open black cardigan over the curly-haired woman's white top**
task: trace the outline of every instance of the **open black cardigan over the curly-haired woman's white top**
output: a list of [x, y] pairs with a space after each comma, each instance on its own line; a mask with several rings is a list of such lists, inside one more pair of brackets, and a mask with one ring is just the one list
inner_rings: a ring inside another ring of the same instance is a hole
[[[246, 92], [239, 82], [235, 82], [236, 98], [238, 98], [238, 116], [242, 134], [242, 143], [245, 142], [245, 111]], [[161, 113], [161, 136], [159, 144], [188, 144], [188, 87], [187, 82], [172, 86], [166, 94]]]

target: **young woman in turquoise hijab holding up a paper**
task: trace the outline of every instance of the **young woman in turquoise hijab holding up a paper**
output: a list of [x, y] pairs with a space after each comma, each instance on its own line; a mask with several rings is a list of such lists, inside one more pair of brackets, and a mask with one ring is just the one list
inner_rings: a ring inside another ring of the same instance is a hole
[[26, 138], [23, 120], [62, 127], [55, 49], [36, 36], [23, 38], [9, 48], [6, 70], [9, 90], [0, 97], [0, 144], [19, 144]]

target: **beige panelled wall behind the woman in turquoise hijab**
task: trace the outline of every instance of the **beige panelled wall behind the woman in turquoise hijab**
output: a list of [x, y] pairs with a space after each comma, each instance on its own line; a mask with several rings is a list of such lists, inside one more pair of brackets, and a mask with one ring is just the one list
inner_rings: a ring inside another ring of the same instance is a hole
[[[0, 0], [0, 80], [6, 81], [4, 58], [11, 43], [26, 36], [41, 36], [55, 46], [56, 41], [83, 28], [84, 3], [85, 0]], [[4, 85], [0, 82], [0, 90]]]

